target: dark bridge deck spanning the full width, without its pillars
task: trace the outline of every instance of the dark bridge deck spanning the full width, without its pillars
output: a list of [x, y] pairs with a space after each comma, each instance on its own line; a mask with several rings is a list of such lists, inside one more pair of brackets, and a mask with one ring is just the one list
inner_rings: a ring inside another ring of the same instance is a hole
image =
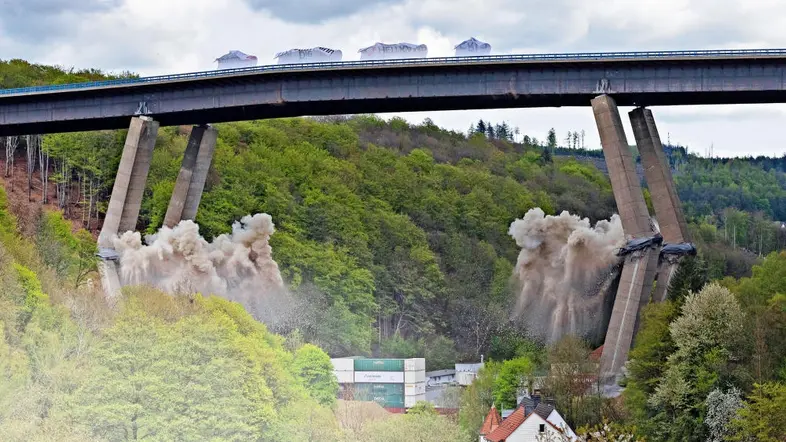
[[368, 60], [0, 90], [0, 136], [301, 115], [786, 102], [786, 50]]

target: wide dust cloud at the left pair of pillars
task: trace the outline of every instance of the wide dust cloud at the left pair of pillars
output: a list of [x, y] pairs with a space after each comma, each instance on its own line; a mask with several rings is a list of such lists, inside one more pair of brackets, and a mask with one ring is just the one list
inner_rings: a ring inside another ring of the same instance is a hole
[[278, 304], [284, 282], [268, 243], [275, 231], [266, 213], [248, 215], [232, 233], [207, 242], [190, 220], [162, 227], [145, 238], [125, 232], [114, 239], [123, 285], [152, 285], [168, 293], [218, 295], [243, 304], [259, 317]]

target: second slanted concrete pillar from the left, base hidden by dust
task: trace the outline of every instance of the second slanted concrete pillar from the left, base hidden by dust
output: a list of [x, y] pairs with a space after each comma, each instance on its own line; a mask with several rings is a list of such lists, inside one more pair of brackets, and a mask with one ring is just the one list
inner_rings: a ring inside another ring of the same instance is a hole
[[175, 189], [164, 217], [165, 226], [174, 227], [181, 220], [196, 218], [217, 135], [216, 129], [210, 126], [194, 126], [191, 129]]

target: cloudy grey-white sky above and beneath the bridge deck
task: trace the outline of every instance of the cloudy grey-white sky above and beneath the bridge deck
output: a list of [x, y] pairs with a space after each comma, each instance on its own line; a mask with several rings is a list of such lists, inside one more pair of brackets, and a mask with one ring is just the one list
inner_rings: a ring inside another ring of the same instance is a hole
[[[782, 0], [0, 0], [0, 59], [133, 71], [215, 68], [230, 49], [273, 63], [295, 47], [357, 49], [377, 41], [428, 45], [448, 56], [469, 37], [494, 53], [786, 47]], [[622, 112], [630, 109], [621, 108]], [[786, 154], [781, 105], [656, 107], [664, 141], [716, 156]], [[466, 130], [482, 118], [543, 139], [584, 130], [599, 147], [589, 107], [400, 114]], [[390, 116], [390, 115], [385, 115]], [[630, 124], [623, 114], [629, 142]]]

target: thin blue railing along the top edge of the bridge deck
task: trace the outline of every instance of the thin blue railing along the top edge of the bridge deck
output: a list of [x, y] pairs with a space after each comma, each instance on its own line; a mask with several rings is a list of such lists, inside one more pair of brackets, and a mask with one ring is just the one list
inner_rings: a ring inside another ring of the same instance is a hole
[[253, 66], [247, 68], [221, 69], [212, 71], [190, 72], [184, 74], [157, 75], [142, 78], [123, 78], [106, 81], [90, 81], [84, 83], [57, 84], [49, 86], [31, 86], [14, 89], [0, 89], [2, 95], [17, 95], [36, 92], [55, 92], [72, 89], [85, 89], [104, 86], [121, 86], [131, 84], [166, 83], [174, 80], [189, 80], [210, 77], [231, 76], [234, 74], [263, 72], [300, 72], [322, 71], [335, 68], [371, 67], [371, 66], [428, 66], [428, 65], [471, 65], [493, 62], [515, 61], [564, 61], [564, 60], [618, 60], [618, 59], [657, 59], [657, 58], [691, 58], [719, 57], [736, 58], [752, 56], [783, 56], [786, 49], [730, 49], [730, 50], [696, 50], [696, 51], [649, 51], [649, 52], [594, 52], [594, 53], [562, 53], [562, 54], [522, 54], [522, 55], [484, 55], [477, 57], [432, 57], [402, 58], [394, 60], [361, 60], [361, 61], [329, 61], [319, 63], [275, 64]]

